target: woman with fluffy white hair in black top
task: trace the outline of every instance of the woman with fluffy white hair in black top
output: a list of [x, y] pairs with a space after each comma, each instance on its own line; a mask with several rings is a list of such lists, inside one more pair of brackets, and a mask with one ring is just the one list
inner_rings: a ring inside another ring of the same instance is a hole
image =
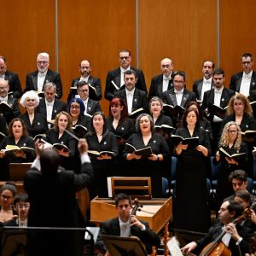
[[30, 137], [35, 137], [48, 131], [47, 120], [44, 115], [36, 112], [39, 104], [39, 97], [36, 91], [26, 91], [20, 98], [20, 104], [26, 108], [26, 113], [21, 114], [20, 119], [24, 121]]

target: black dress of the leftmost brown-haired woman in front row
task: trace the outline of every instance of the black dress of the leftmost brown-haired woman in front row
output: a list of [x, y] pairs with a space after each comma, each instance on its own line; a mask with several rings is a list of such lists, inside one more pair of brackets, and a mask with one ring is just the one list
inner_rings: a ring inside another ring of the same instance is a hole
[[[0, 150], [4, 149], [7, 145], [15, 145], [18, 147], [28, 147], [35, 148], [35, 143], [32, 137], [20, 137], [19, 142], [15, 143], [15, 138], [7, 136], [3, 138], [3, 141], [0, 143]], [[0, 159], [0, 180], [9, 180], [9, 163], [29, 163], [32, 162], [36, 157], [34, 151], [27, 151], [26, 158], [16, 157], [13, 153], [7, 153], [6, 157]]]

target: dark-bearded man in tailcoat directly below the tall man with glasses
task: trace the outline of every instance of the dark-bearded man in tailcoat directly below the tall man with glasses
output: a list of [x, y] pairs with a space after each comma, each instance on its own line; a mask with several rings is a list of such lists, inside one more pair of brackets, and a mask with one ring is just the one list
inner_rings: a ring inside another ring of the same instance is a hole
[[129, 114], [139, 108], [143, 108], [142, 112], [148, 112], [146, 91], [135, 88], [137, 83], [137, 73], [132, 69], [126, 70], [124, 78], [125, 89], [116, 91], [114, 96], [120, 96], [124, 100]]

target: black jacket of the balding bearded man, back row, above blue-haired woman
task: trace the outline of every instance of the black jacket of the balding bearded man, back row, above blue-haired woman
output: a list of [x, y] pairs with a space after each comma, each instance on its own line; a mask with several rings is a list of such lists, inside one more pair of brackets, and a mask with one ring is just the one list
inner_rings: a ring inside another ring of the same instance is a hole
[[[80, 81], [80, 78], [77, 78], [77, 79], [73, 79], [72, 81], [72, 84], [71, 84], [71, 87], [77, 87], [77, 84], [79, 83]], [[96, 89], [96, 94], [92, 93], [91, 92], [91, 89], [90, 89], [90, 93], [89, 93], [89, 97], [90, 99], [94, 100], [94, 101], [100, 101], [102, 99], [102, 84], [101, 84], [101, 80], [98, 79], [98, 78], [95, 78], [93, 76], [89, 76], [89, 79], [88, 79], [88, 84], [90, 84], [92, 87], [94, 87]], [[68, 96], [67, 96], [67, 103], [73, 99], [73, 97], [77, 95], [77, 93], [73, 93], [72, 90], [70, 90]]]

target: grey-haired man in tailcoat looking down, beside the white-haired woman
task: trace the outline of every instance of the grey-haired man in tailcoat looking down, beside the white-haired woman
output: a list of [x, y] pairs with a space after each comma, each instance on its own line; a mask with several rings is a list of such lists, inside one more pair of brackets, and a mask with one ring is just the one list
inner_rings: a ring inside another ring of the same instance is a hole
[[[44, 98], [40, 99], [37, 111], [42, 113], [47, 121], [55, 119], [57, 113], [67, 111], [67, 104], [56, 99], [56, 85], [52, 82], [44, 84]], [[50, 127], [50, 125], [49, 125]]]

